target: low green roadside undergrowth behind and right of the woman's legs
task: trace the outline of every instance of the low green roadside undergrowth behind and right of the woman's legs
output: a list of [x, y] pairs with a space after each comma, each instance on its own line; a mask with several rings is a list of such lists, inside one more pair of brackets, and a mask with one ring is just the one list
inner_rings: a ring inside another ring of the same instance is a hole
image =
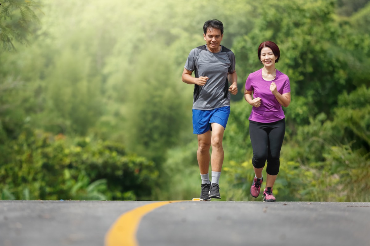
[[[318, 114], [285, 138], [274, 185], [280, 201], [369, 201], [370, 89], [362, 86], [338, 98], [332, 120]], [[224, 141], [226, 200], [259, 201], [249, 195], [254, 176], [249, 114], [246, 102], [232, 104]], [[287, 128], [291, 132], [288, 123]]]

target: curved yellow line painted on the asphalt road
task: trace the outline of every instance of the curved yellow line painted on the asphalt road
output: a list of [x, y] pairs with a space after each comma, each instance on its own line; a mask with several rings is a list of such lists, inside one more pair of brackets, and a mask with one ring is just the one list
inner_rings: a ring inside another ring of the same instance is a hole
[[164, 201], [153, 202], [138, 208], [134, 208], [120, 216], [117, 221], [111, 226], [110, 230], [105, 235], [105, 246], [138, 246], [136, 232], [139, 227], [141, 218], [163, 205], [181, 202], [181, 201]]

